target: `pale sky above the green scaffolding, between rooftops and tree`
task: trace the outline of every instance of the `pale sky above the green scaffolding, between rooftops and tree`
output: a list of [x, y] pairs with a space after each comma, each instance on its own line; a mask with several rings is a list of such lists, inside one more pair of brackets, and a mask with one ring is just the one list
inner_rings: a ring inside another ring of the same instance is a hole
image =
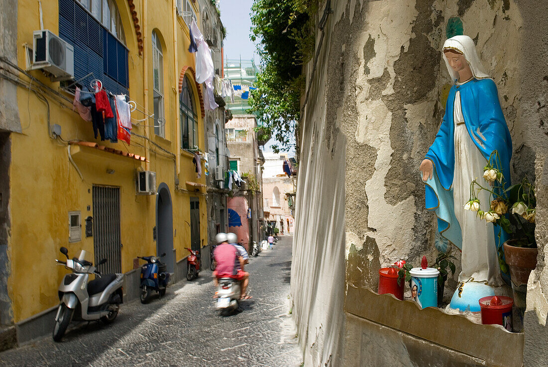
[[220, 0], [221, 22], [226, 28], [223, 43], [225, 59], [255, 59], [259, 62], [255, 44], [249, 39], [253, 0]]

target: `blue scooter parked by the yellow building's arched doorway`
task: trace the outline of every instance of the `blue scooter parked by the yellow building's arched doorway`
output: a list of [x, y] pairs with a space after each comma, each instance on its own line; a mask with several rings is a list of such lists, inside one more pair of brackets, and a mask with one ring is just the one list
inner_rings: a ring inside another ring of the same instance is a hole
[[138, 256], [146, 261], [141, 267], [141, 303], [149, 302], [150, 293], [154, 290], [160, 297], [165, 295], [165, 289], [169, 283], [169, 273], [164, 263], [159, 259], [165, 256], [165, 252], [159, 257]]

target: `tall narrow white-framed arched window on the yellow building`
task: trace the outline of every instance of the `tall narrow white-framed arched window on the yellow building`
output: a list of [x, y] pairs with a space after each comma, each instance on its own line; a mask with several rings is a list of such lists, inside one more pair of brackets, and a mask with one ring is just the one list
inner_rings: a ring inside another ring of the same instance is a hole
[[162, 44], [152, 31], [152, 73], [153, 73], [153, 98], [154, 98], [154, 133], [165, 138], [164, 119], [164, 57]]

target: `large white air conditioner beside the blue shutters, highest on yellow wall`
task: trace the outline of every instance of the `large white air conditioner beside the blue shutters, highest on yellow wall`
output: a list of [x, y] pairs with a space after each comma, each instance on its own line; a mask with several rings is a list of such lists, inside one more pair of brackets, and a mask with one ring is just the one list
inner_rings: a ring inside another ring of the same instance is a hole
[[43, 69], [55, 80], [74, 77], [74, 47], [48, 30], [34, 31], [32, 69]]

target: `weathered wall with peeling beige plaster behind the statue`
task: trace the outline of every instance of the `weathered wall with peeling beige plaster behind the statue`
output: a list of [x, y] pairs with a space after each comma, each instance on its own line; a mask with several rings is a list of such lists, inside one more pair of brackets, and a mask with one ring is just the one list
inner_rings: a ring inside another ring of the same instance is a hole
[[[498, 86], [513, 139], [512, 180], [536, 176], [541, 248], [528, 306], [545, 320], [546, 10], [512, 0], [350, 0], [331, 7], [312, 81], [313, 62], [305, 69], [310, 95], [299, 139], [292, 295], [305, 365], [327, 363], [341, 351], [340, 289], [376, 290], [380, 266], [435, 257], [436, 222], [424, 209], [418, 167], [438, 131], [450, 87], [441, 49], [451, 18], [475, 40]], [[345, 265], [346, 283], [339, 276]], [[325, 274], [332, 275], [327, 286]], [[455, 286], [450, 279], [448, 288]], [[359, 330], [352, 320], [346, 320], [346, 346], [362, 338], [352, 331]], [[387, 342], [386, 348], [397, 348]], [[516, 350], [521, 353], [521, 347]]]

